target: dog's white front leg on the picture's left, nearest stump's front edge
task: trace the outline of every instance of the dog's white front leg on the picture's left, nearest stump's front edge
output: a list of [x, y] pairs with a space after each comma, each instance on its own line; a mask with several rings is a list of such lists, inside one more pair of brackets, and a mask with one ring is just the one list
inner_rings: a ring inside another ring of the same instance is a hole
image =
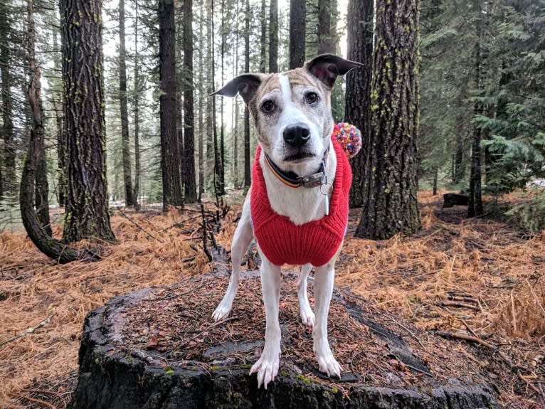
[[278, 303], [280, 302], [280, 266], [273, 265], [260, 250], [261, 288], [265, 304], [265, 346], [259, 360], [250, 369], [250, 374], [258, 373], [258, 388], [261, 383], [267, 389], [278, 373], [280, 364], [280, 324], [278, 322]]

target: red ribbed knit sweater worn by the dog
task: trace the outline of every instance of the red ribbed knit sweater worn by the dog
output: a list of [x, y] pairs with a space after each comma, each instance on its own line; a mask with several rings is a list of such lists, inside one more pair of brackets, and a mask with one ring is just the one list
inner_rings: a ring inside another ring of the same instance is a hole
[[329, 262], [339, 250], [348, 224], [348, 193], [352, 172], [346, 154], [335, 137], [332, 137], [332, 145], [337, 156], [337, 171], [329, 216], [303, 225], [293, 224], [289, 218], [280, 216], [270, 207], [263, 170], [259, 164], [261, 147], [258, 147], [253, 164], [250, 213], [255, 238], [272, 264], [302, 265], [309, 262], [318, 267]]

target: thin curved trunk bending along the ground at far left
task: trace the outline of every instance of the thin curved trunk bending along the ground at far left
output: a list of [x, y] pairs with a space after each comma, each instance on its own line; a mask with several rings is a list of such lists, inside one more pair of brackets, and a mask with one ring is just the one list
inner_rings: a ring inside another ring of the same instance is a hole
[[[19, 204], [21, 206], [21, 219], [28, 237], [36, 245], [38, 250], [58, 260], [60, 263], [70, 262], [81, 258], [78, 250], [67, 248], [58, 240], [54, 240], [49, 225], [49, 213], [44, 221], [43, 215], [34, 210], [34, 192], [38, 174], [43, 171], [41, 167], [45, 164], [45, 143], [43, 129], [43, 110], [41, 102], [40, 70], [36, 65], [36, 32], [34, 31], [33, 2], [27, 1], [27, 53], [28, 53], [28, 102], [32, 110], [30, 140], [28, 141], [28, 154], [23, 164], [21, 174], [21, 189], [19, 191]], [[47, 176], [47, 174], [46, 174]], [[48, 205], [47, 197], [45, 205]], [[49, 208], [47, 206], [47, 211]], [[97, 260], [97, 257], [91, 257]]]

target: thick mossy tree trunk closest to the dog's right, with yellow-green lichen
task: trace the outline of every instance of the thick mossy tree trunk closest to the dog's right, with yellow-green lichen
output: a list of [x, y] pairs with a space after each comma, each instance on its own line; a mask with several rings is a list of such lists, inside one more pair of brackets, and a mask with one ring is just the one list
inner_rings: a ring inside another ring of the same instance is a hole
[[416, 201], [418, 0], [376, 0], [372, 124], [359, 238], [420, 228]]

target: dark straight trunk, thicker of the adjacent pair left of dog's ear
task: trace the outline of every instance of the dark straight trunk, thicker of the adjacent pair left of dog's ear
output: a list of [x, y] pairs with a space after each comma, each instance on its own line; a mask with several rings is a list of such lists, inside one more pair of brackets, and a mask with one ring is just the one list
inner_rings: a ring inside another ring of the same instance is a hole
[[181, 194], [178, 138], [176, 135], [176, 29], [174, 0], [159, 0], [159, 112], [163, 211], [184, 206]]

